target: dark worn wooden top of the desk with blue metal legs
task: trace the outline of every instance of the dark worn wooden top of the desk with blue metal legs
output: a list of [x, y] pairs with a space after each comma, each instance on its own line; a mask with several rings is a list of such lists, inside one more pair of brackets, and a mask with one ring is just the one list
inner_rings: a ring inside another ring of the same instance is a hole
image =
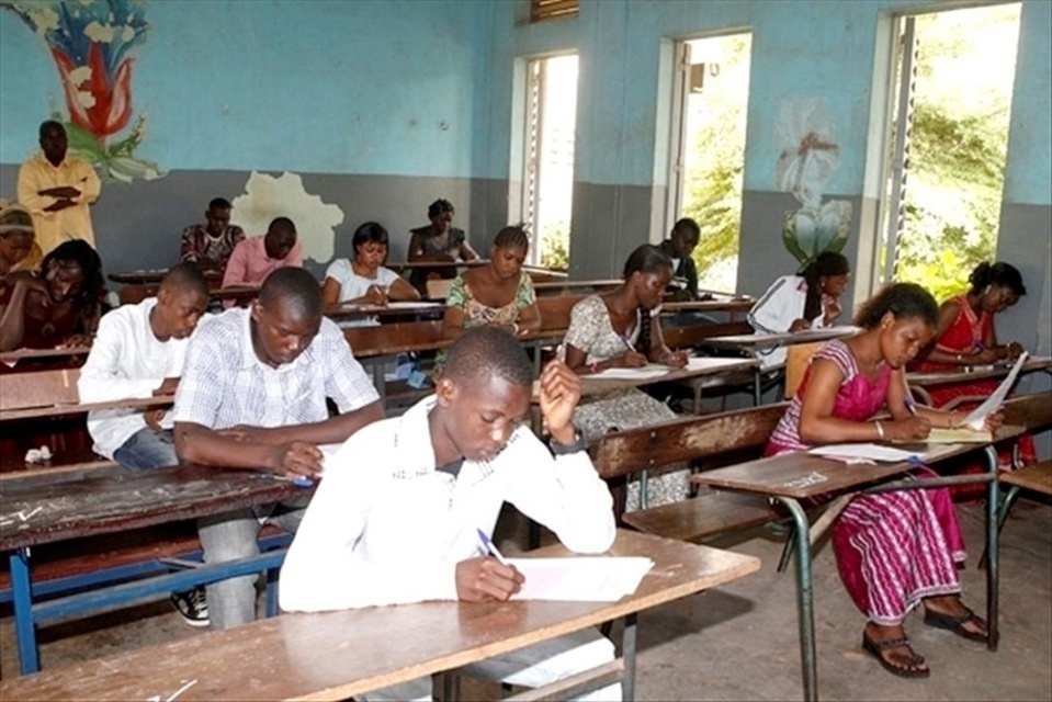
[[197, 465], [14, 478], [3, 483], [0, 550], [195, 519], [310, 494], [312, 488], [253, 471]]

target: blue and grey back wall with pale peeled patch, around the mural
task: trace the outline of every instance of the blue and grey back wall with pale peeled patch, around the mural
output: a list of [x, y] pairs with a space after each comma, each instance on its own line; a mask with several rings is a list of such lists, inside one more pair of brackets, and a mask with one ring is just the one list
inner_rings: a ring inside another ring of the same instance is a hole
[[[33, 9], [80, 12], [81, 4]], [[181, 228], [202, 220], [212, 197], [246, 195], [253, 172], [269, 177], [258, 180], [275, 211], [257, 212], [249, 234], [261, 233], [270, 215], [302, 212], [301, 236], [319, 261], [333, 249], [346, 253], [351, 233], [366, 219], [387, 226], [392, 258], [404, 259], [408, 228], [427, 223], [427, 206], [438, 197], [457, 206], [456, 224], [474, 235], [476, 81], [484, 73], [476, 52], [487, 19], [473, 5], [128, 5], [148, 29], [127, 53], [132, 117], [108, 144], [145, 116], [146, 136], [134, 157], [166, 174], [104, 186], [93, 222], [108, 270], [169, 264]], [[103, 5], [88, 10], [95, 7]], [[7, 8], [0, 10], [0, 195], [10, 197], [18, 165], [36, 150], [36, 127], [53, 112], [65, 116], [67, 105], [48, 45]], [[286, 171], [301, 177], [302, 188], [280, 179]]]

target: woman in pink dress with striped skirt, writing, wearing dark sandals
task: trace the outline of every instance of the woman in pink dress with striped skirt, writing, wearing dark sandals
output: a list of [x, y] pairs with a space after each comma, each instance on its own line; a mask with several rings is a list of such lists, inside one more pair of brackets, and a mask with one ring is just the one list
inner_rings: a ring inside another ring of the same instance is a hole
[[[959, 424], [962, 412], [906, 404], [904, 367], [932, 339], [937, 322], [935, 298], [919, 285], [894, 284], [871, 298], [855, 321], [862, 331], [815, 354], [767, 454], [825, 443], [920, 440], [931, 427]], [[882, 408], [891, 418], [874, 420]], [[926, 475], [934, 474], [916, 472]], [[964, 541], [946, 488], [856, 497], [834, 524], [833, 548], [848, 593], [869, 618], [862, 646], [889, 671], [907, 678], [930, 673], [903, 627], [921, 602], [926, 624], [986, 641], [986, 623], [961, 601], [957, 564], [964, 559]]]

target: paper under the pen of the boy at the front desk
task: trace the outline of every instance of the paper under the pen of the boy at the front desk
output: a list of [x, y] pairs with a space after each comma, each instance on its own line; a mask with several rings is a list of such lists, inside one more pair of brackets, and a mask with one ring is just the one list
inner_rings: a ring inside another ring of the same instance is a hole
[[513, 600], [615, 602], [635, 592], [654, 567], [645, 557], [509, 558], [525, 577]]

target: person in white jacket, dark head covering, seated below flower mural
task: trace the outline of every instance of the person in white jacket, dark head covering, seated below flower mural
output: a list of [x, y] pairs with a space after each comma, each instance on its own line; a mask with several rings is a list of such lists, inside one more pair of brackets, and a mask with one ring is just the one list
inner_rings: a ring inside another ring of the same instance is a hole
[[[759, 333], [784, 333], [832, 327], [840, 316], [840, 295], [851, 274], [840, 253], [823, 251], [801, 275], [774, 281], [749, 310], [749, 324]], [[785, 349], [777, 347], [762, 359], [765, 366], [785, 362]]]

